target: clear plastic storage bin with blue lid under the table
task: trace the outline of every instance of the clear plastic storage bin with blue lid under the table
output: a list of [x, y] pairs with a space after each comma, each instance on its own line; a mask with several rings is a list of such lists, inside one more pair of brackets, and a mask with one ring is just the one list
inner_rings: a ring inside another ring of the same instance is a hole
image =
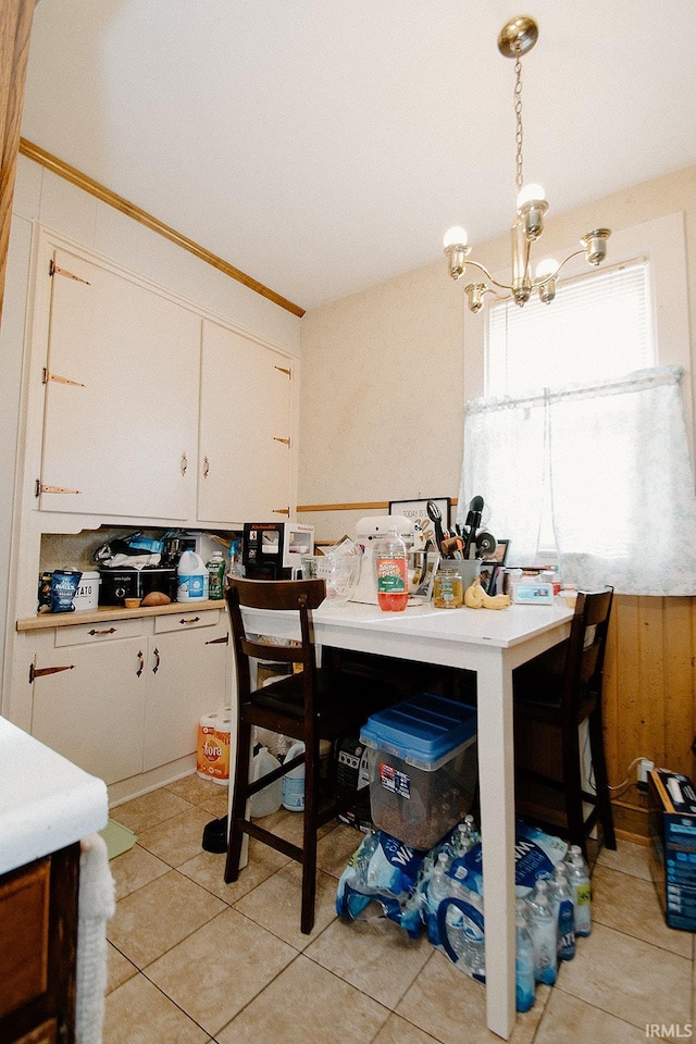
[[431, 848], [467, 815], [477, 773], [475, 708], [423, 693], [373, 714], [360, 741], [375, 826]]

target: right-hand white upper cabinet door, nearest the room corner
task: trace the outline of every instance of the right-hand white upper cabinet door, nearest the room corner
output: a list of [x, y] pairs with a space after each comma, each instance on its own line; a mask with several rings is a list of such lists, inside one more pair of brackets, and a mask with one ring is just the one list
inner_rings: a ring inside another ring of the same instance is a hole
[[198, 518], [287, 517], [291, 475], [287, 357], [203, 321]]

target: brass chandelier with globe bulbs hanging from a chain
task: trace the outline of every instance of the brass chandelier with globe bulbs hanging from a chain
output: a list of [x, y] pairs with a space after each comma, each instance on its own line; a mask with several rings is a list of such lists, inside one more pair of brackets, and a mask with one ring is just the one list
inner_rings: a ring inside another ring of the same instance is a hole
[[[544, 215], [548, 210], [546, 196], [540, 185], [525, 185], [522, 178], [522, 55], [530, 51], [538, 38], [538, 27], [534, 18], [521, 16], [512, 18], [500, 30], [498, 50], [506, 58], [514, 59], [514, 115], [517, 121], [515, 142], [515, 185], [517, 185], [517, 216], [512, 222], [512, 282], [499, 283], [488, 269], [478, 261], [469, 258], [471, 247], [463, 228], [456, 226], [445, 233], [443, 240], [445, 253], [449, 261], [449, 274], [453, 279], [460, 279], [468, 268], [475, 268], [483, 273], [484, 279], [469, 283], [464, 291], [469, 299], [469, 308], [477, 312], [483, 307], [484, 294], [494, 294], [499, 300], [510, 297], [515, 304], [523, 306], [532, 294], [538, 290], [539, 298], [546, 304], [556, 296], [556, 281], [558, 273], [572, 258], [584, 253], [589, 264], [600, 264], [607, 256], [607, 239], [611, 235], [609, 228], [595, 228], [581, 237], [582, 248], [564, 258], [560, 264], [552, 259], [540, 261], [532, 275], [530, 248], [544, 232]], [[497, 288], [497, 289], [496, 289]], [[507, 293], [500, 293], [507, 291]]]

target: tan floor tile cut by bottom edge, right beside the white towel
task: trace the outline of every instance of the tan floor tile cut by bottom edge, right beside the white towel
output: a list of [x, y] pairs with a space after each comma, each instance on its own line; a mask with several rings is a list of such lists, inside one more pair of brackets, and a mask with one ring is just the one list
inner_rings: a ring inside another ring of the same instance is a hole
[[204, 1030], [144, 975], [107, 997], [103, 1044], [208, 1044]]

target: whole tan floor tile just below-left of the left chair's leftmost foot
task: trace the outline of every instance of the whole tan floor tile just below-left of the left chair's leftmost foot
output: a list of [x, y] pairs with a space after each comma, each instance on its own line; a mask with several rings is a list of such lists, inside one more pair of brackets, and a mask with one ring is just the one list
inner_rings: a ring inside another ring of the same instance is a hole
[[107, 935], [138, 968], [201, 928], [224, 904], [175, 870], [116, 904]]

